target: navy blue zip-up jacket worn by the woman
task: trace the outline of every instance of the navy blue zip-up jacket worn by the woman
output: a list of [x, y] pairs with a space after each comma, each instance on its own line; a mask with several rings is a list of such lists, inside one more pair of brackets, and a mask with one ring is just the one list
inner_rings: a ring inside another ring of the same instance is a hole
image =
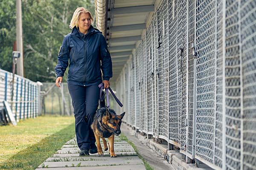
[[[93, 85], [112, 77], [112, 61], [107, 42], [102, 33], [90, 26], [87, 34], [76, 27], [64, 37], [55, 67], [57, 77], [63, 77], [68, 66], [67, 82]], [[102, 73], [103, 76], [102, 76]]]

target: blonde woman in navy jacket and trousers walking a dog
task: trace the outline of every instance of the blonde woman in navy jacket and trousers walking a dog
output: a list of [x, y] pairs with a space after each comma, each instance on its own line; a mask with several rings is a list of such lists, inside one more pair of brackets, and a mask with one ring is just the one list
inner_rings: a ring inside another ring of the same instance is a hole
[[108, 88], [112, 77], [112, 61], [106, 40], [98, 29], [91, 26], [92, 22], [90, 11], [83, 7], [76, 9], [70, 22], [72, 31], [64, 37], [55, 67], [55, 84], [60, 88], [59, 83], [69, 62], [67, 84], [76, 119], [80, 156], [97, 153], [90, 125], [99, 105], [98, 85], [103, 82], [104, 88]]

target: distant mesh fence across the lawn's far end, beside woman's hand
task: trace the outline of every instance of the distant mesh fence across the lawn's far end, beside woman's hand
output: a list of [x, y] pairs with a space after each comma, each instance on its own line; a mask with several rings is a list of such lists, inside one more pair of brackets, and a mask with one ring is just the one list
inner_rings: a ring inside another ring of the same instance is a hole
[[40, 96], [42, 114], [73, 115], [67, 83], [61, 83], [61, 88], [58, 88], [55, 83], [44, 82]]

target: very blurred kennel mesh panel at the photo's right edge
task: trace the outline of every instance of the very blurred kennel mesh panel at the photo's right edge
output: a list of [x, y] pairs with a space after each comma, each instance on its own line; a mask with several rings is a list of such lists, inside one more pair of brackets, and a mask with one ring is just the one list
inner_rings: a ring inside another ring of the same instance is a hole
[[243, 73], [243, 166], [256, 169], [256, 2], [241, 1]]

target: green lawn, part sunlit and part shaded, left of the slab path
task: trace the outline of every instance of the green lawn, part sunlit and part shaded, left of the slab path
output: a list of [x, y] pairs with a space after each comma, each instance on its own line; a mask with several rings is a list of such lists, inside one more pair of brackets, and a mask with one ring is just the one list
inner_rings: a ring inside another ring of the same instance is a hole
[[0, 170], [35, 170], [75, 137], [73, 116], [38, 116], [0, 127]]

